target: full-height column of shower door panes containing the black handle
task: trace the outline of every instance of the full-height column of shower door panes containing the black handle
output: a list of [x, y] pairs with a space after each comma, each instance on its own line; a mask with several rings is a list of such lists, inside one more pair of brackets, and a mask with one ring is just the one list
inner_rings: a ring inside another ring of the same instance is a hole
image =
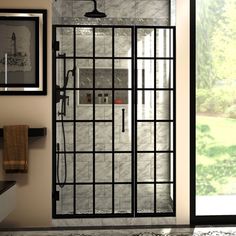
[[133, 29], [114, 29], [115, 213], [133, 214]]

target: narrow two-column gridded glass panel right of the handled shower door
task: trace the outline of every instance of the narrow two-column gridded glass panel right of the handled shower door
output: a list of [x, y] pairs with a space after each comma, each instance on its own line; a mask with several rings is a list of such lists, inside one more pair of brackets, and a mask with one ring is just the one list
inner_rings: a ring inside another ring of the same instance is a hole
[[171, 28], [136, 28], [136, 212], [171, 214], [174, 68]]

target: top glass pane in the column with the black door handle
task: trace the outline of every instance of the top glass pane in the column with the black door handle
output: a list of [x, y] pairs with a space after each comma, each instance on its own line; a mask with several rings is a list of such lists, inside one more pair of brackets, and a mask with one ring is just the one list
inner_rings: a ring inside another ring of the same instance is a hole
[[131, 29], [115, 29], [115, 57], [131, 57]]

